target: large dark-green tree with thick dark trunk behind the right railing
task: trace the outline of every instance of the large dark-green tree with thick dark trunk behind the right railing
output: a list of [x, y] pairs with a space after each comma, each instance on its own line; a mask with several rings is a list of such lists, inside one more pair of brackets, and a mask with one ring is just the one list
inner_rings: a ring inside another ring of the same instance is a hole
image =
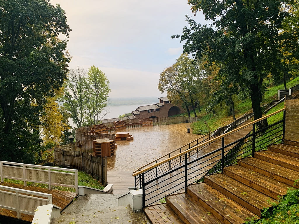
[[[181, 41], [184, 52], [220, 63], [219, 76], [228, 83], [246, 86], [251, 96], [254, 119], [262, 117], [263, 79], [277, 53], [282, 28], [283, 2], [277, 0], [210, 1], [189, 0], [194, 13], [201, 10], [211, 26], [201, 26], [187, 16]], [[179, 37], [179, 36], [173, 36]], [[260, 124], [260, 127], [267, 122]]]

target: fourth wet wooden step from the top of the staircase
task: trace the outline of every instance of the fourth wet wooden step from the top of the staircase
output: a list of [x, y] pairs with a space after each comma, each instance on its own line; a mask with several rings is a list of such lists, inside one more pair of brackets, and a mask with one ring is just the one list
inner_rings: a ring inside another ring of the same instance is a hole
[[[283, 182], [287, 185], [293, 186], [295, 180], [299, 179], [299, 172], [287, 169], [270, 162], [266, 162], [256, 158], [239, 159], [238, 165], [246, 167], [259, 174], [263, 174], [267, 177]], [[299, 186], [294, 186], [299, 188]]]

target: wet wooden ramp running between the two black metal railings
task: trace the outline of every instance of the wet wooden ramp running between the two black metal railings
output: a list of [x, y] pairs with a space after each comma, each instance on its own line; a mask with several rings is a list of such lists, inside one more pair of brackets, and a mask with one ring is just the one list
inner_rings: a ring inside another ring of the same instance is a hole
[[[250, 121], [244, 122], [244, 125], [249, 122]], [[237, 139], [245, 137], [251, 130], [252, 130], [252, 127], [249, 126], [242, 130], [239, 130], [229, 136], [226, 136], [225, 142], [224, 142], [225, 145], [228, 145], [229, 143], [232, 143], [232, 142], [236, 141]], [[237, 145], [237, 143], [226, 148], [226, 150], [233, 148], [235, 145]], [[220, 147], [221, 147], [221, 139], [217, 140], [216, 142], [211, 143], [210, 145], [205, 146], [204, 149], [193, 154], [188, 161], [202, 157], [202, 156], [208, 154], [209, 152], [212, 152]], [[202, 177], [204, 177], [205, 173], [208, 172], [211, 168], [213, 168], [213, 166], [216, 165], [217, 162], [219, 162], [219, 160], [221, 159], [221, 152], [219, 153], [219, 156], [215, 157], [215, 155], [212, 155], [210, 157], [206, 157], [205, 160], [207, 160], [207, 159], [210, 159], [210, 160], [208, 162], [198, 161], [198, 162], [195, 162], [192, 165], [188, 166], [188, 168], [189, 168], [188, 184], [191, 184], [191, 183], [195, 182], [196, 180], [199, 180]], [[182, 158], [182, 161], [183, 160], [184, 160], [184, 158]], [[171, 166], [172, 166], [172, 164], [171, 164]], [[199, 171], [199, 168], [201, 168], [200, 171]], [[181, 169], [181, 170], [174, 171], [171, 174], [169, 174], [163, 178], [160, 178], [159, 182], [161, 184], [156, 184], [156, 182], [153, 182], [152, 184], [146, 186], [146, 188], [150, 187], [150, 189], [148, 191], [147, 190], [145, 191], [145, 194], [146, 194], [145, 195], [145, 200], [146, 200], [145, 205], [149, 205], [152, 203], [161, 203], [159, 201], [160, 198], [166, 197], [167, 195], [170, 195], [173, 193], [183, 193], [184, 192], [184, 177], [185, 177], [184, 170]], [[154, 193], [148, 193], [148, 192], [152, 192], [152, 191], [154, 191]], [[158, 193], [159, 193], [159, 195], [158, 195], [158, 197], [156, 197], [155, 195], [157, 195]]]

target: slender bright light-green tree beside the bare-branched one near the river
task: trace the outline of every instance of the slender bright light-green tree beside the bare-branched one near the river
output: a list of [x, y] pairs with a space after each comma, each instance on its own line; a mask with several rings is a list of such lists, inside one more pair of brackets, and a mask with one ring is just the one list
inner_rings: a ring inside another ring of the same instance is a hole
[[87, 73], [89, 88], [84, 92], [86, 107], [88, 110], [88, 121], [90, 125], [97, 124], [103, 108], [107, 106], [109, 81], [99, 68], [92, 65]]

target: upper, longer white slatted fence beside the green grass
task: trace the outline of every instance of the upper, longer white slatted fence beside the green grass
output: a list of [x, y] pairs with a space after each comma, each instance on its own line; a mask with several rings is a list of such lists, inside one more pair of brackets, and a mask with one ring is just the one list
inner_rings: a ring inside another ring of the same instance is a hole
[[[4, 178], [75, 188], [78, 194], [78, 170], [0, 161], [1, 182]], [[36, 208], [36, 207], [35, 207]]]

